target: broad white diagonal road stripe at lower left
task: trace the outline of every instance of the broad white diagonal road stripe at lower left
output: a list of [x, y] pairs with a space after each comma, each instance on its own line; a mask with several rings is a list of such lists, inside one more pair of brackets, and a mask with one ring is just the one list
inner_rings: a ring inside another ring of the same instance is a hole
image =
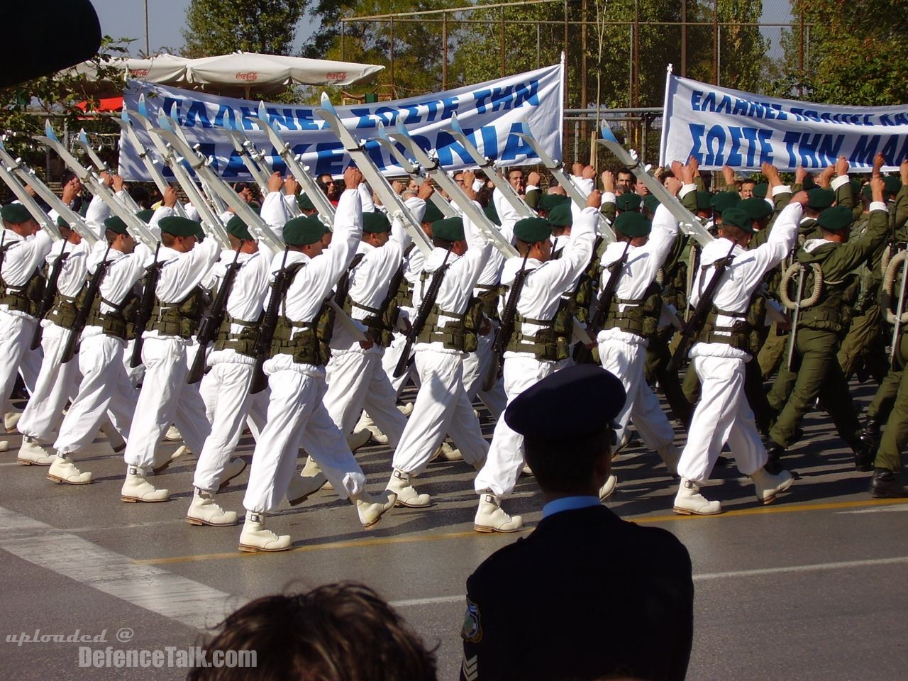
[[0, 507], [0, 548], [134, 606], [206, 629], [236, 606], [230, 594], [99, 547], [71, 532]]

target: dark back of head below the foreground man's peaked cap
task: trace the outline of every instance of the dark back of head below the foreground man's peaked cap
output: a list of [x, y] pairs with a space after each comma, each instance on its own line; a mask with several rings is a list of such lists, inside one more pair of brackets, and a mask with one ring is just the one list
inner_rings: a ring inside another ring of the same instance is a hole
[[527, 463], [539, 487], [558, 494], [588, 494], [597, 460], [608, 456], [611, 429], [584, 438], [523, 442]]

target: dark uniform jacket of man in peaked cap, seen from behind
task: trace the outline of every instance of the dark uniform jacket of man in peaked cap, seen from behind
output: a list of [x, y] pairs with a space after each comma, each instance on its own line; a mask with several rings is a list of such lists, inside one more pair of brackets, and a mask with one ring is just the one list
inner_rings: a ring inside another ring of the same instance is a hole
[[543, 518], [467, 580], [461, 681], [685, 677], [694, 625], [687, 549], [604, 506]]

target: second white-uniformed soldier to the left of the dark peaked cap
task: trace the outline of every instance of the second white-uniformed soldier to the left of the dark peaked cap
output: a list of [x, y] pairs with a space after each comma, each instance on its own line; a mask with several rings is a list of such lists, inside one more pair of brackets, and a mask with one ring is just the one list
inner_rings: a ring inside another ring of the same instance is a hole
[[[469, 186], [465, 191], [471, 199], [476, 195]], [[412, 508], [427, 507], [431, 499], [410, 485], [410, 474], [425, 469], [446, 433], [454, 439], [463, 459], [476, 469], [485, 461], [489, 447], [464, 390], [462, 358], [465, 351], [475, 350], [475, 334], [482, 326], [482, 301], [471, 303], [471, 295], [492, 246], [466, 217], [434, 222], [432, 241], [435, 248], [426, 259], [422, 281], [413, 291], [414, 308], [419, 311], [437, 276], [440, 285], [415, 343], [419, 393], [394, 451], [388, 483], [398, 503]]]

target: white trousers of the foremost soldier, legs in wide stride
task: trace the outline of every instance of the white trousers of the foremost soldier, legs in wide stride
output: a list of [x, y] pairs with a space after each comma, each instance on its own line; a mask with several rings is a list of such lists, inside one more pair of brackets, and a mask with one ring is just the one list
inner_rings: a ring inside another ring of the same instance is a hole
[[[289, 356], [278, 355], [278, 359], [288, 366]], [[338, 496], [360, 494], [366, 476], [322, 402], [327, 388], [323, 374], [292, 368], [271, 373], [272, 362], [265, 363], [271, 387], [268, 422], [255, 443], [243, 507], [266, 513], [281, 502], [296, 473], [300, 446], [319, 464]]]

